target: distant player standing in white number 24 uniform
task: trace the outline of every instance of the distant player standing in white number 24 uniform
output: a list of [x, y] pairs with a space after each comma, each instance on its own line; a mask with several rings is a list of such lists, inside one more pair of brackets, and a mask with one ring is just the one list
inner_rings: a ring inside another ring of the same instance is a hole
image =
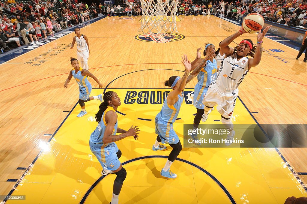
[[90, 54], [90, 45], [88, 44], [87, 37], [81, 35], [80, 28], [75, 28], [76, 36], [72, 38], [72, 46], [70, 49], [74, 48], [75, 43], [77, 44], [77, 59], [81, 64], [82, 69], [88, 70], [88, 56]]

